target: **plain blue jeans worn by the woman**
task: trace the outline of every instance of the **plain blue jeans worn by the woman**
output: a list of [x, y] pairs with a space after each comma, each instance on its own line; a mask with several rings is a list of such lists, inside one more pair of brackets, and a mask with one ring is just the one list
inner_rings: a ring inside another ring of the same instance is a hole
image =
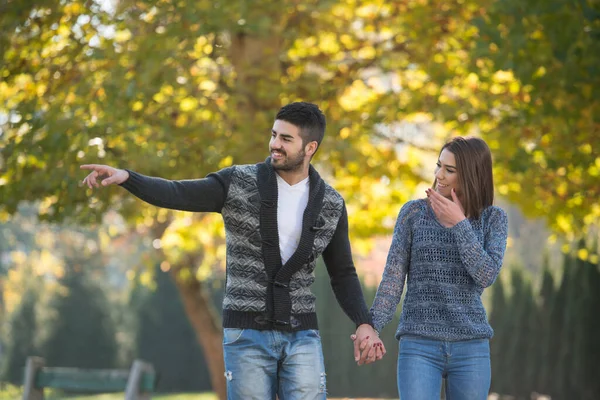
[[486, 400], [491, 381], [489, 340], [400, 337], [400, 400], [439, 399], [444, 378], [447, 400]]

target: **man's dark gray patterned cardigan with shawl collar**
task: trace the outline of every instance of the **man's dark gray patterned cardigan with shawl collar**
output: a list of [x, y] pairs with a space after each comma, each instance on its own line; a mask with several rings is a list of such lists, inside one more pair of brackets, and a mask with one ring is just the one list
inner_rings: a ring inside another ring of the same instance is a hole
[[352, 262], [344, 200], [312, 166], [300, 242], [283, 265], [277, 229], [277, 180], [270, 158], [195, 180], [169, 181], [128, 172], [129, 179], [122, 186], [150, 204], [220, 212], [223, 216], [227, 238], [225, 328], [317, 329], [310, 286], [320, 255], [343, 310], [357, 326], [371, 324]]

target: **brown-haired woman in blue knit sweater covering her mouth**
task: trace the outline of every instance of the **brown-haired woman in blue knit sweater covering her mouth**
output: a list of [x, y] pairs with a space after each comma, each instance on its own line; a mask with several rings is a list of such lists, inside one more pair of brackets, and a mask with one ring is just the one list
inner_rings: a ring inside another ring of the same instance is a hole
[[427, 199], [400, 210], [371, 308], [379, 332], [392, 319], [404, 282], [396, 338], [402, 400], [487, 399], [489, 339], [481, 302], [496, 280], [507, 238], [505, 212], [493, 206], [492, 157], [478, 138], [457, 137], [439, 154]]

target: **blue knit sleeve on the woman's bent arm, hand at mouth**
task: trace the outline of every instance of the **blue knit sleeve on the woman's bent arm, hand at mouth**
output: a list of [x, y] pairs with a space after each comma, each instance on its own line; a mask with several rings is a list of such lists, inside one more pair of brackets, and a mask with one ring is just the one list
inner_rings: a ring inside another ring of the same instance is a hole
[[466, 219], [450, 230], [454, 234], [461, 261], [469, 275], [479, 286], [486, 288], [494, 283], [502, 267], [508, 237], [508, 218], [501, 208], [490, 207], [489, 214], [483, 222], [483, 245], [477, 240], [471, 223]]

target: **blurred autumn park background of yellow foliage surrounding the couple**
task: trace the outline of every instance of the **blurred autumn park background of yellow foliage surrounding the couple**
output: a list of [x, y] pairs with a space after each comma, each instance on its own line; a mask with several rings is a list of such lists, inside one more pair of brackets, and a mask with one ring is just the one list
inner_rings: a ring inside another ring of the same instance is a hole
[[[260, 162], [299, 100], [328, 118], [313, 163], [346, 199], [369, 304], [441, 145], [484, 138], [510, 228], [484, 293], [491, 398], [600, 398], [600, 1], [0, 0], [0, 32], [0, 398], [31, 355], [141, 358], [165, 399], [223, 398], [220, 216], [92, 192], [79, 165]], [[329, 394], [397, 398], [397, 318], [357, 367], [316, 273]]]

